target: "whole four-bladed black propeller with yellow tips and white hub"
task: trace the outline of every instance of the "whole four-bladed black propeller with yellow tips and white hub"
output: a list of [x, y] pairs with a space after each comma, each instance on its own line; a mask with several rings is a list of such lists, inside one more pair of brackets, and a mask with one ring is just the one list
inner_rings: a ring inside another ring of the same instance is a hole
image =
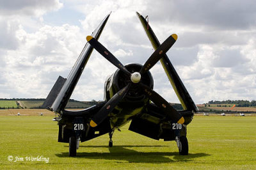
[[125, 72], [129, 75], [131, 75], [131, 82], [127, 84], [124, 88], [120, 89], [110, 100], [100, 109], [99, 112], [97, 112], [92, 120], [90, 121], [91, 127], [96, 127], [101, 123], [106, 117], [108, 117], [108, 114], [113, 111], [113, 109], [118, 105], [118, 103], [125, 97], [127, 91], [129, 91], [130, 87], [132, 86], [132, 83], [136, 84], [139, 83], [139, 86], [143, 89], [143, 93], [147, 95], [147, 97], [154, 102], [161, 110], [166, 114], [170, 120], [173, 120], [177, 123], [183, 124], [184, 118], [181, 116], [179, 112], [177, 112], [166, 100], [164, 100], [163, 97], [161, 97], [156, 91], [149, 88], [148, 86], [145, 86], [145, 84], [140, 83], [141, 75], [143, 73], [148, 72], [150, 68], [152, 68], [156, 63], [166, 54], [166, 52], [172, 47], [172, 45], [177, 40], [177, 35], [173, 34], [169, 36], [159, 47], [153, 52], [153, 54], [150, 56], [150, 58], [147, 59], [145, 64], [142, 66], [140, 72], [129, 72], [124, 65], [116, 57], [109, 52], [108, 49], [106, 49], [100, 42], [95, 40], [92, 36], [87, 36], [86, 40], [92, 47], [97, 50], [104, 58], [108, 59], [110, 63], [115, 65], [117, 68], [122, 70], [122, 72]]

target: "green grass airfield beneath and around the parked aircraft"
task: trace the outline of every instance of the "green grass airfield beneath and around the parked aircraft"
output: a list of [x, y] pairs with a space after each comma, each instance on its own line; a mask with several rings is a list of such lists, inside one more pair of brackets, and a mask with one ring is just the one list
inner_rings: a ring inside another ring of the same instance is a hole
[[[68, 157], [58, 143], [51, 116], [0, 116], [0, 169], [256, 169], [256, 116], [195, 116], [188, 126], [189, 155], [180, 156], [174, 141], [149, 139], [127, 130], [81, 144]], [[24, 158], [10, 162], [8, 156]], [[26, 157], [49, 157], [49, 163]]]

